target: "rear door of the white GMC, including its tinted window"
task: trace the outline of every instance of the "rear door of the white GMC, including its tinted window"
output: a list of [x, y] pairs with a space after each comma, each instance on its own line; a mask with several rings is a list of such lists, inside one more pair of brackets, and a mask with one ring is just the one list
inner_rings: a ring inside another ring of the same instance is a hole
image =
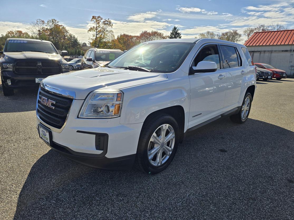
[[220, 45], [223, 57], [223, 67], [226, 70], [226, 91], [224, 107], [238, 103], [243, 75], [247, 72], [245, 63], [242, 63], [237, 47], [232, 45]]

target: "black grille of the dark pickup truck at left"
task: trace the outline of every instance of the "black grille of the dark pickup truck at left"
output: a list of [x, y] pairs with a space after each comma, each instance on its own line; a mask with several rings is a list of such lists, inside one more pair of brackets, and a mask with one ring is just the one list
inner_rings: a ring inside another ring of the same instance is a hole
[[14, 73], [19, 75], [54, 75], [61, 73], [61, 65], [54, 61], [17, 61]]

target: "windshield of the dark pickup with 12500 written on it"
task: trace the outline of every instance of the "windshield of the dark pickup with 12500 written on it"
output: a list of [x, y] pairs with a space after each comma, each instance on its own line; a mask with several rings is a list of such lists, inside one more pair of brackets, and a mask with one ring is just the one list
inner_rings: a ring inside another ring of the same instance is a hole
[[52, 43], [32, 40], [9, 40], [5, 52], [39, 51], [58, 54]]

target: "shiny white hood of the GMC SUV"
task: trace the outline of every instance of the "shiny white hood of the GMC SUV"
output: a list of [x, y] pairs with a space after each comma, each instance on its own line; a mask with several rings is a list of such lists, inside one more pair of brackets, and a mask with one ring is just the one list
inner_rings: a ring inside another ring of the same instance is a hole
[[166, 78], [167, 75], [164, 73], [98, 67], [49, 76], [43, 83], [50, 87], [73, 91], [76, 93], [76, 99], [85, 99], [96, 89], [122, 89]]

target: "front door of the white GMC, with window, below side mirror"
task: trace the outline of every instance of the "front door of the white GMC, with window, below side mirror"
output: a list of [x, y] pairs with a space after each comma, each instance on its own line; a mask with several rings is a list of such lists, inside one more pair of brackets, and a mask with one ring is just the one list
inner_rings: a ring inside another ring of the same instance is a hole
[[222, 109], [225, 101], [226, 72], [221, 69], [223, 65], [218, 45], [203, 46], [192, 66], [197, 66], [200, 61], [216, 62], [218, 70], [189, 75], [191, 88], [189, 127], [197, 125], [201, 117]]

